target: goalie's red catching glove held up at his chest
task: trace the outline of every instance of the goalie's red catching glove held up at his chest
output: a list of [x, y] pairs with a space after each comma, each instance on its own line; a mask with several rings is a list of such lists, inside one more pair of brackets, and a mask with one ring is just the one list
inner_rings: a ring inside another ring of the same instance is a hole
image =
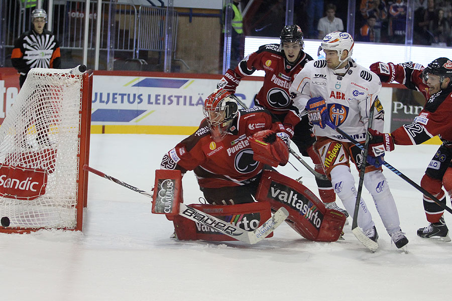
[[284, 166], [289, 161], [289, 147], [274, 131], [258, 131], [250, 138], [253, 159], [273, 167]]

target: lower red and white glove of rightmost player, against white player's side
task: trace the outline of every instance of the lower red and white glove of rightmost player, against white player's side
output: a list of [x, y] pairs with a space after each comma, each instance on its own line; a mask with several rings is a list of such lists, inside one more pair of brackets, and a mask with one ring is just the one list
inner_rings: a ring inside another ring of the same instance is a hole
[[370, 128], [369, 130], [369, 146], [368, 146], [368, 156], [367, 162], [380, 168], [385, 160], [385, 152], [391, 152], [394, 150], [394, 139], [388, 133], [381, 133], [378, 130]]

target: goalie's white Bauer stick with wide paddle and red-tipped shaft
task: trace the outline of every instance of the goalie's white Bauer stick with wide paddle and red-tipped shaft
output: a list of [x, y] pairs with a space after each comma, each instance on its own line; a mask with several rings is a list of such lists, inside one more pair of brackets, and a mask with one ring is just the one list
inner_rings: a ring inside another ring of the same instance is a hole
[[[152, 199], [151, 193], [141, 190], [135, 186], [129, 185], [125, 182], [122, 182], [114, 177], [108, 176], [108, 175], [102, 173], [101, 171], [98, 171], [98, 170], [95, 170], [95, 169], [89, 167], [88, 165], [84, 165], [83, 170], [91, 172], [99, 177], [105, 178], [112, 182], [115, 182], [116, 184], [129, 188], [130, 190], [138, 192], [139, 194], [142, 194], [142, 195], [147, 196], [148, 198]], [[185, 218], [188, 218], [189, 220], [192, 220], [197, 223], [201, 223], [215, 231], [218, 231], [222, 234], [228, 235], [232, 238], [235, 238], [237, 240], [243, 241], [248, 244], [255, 244], [255, 243], [263, 240], [270, 233], [272, 233], [273, 230], [275, 230], [276, 227], [278, 227], [289, 216], [289, 212], [287, 211], [287, 209], [281, 207], [280, 209], [278, 209], [278, 211], [275, 212], [275, 214], [272, 215], [272, 217], [270, 217], [267, 221], [265, 221], [256, 230], [247, 231], [242, 228], [236, 227], [233, 224], [229, 224], [223, 220], [220, 220], [219, 218], [211, 216], [205, 212], [202, 212], [200, 210], [187, 206], [183, 203], [179, 203], [179, 213], [178, 214]]]

